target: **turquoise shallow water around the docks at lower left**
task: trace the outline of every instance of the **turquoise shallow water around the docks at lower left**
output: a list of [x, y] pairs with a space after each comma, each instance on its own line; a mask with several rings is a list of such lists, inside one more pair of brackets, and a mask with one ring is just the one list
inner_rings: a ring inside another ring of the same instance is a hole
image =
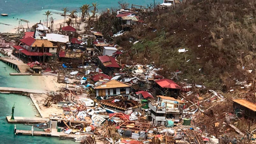
[[[17, 87], [41, 90], [34, 76], [10, 76], [10, 72], [16, 72], [11, 67], [0, 61], [0, 87]], [[33, 102], [27, 96], [16, 94], [0, 94], [0, 143], [2, 144], [65, 144], [75, 143], [71, 140], [59, 140], [52, 137], [14, 135], [14, 124], [8, 124], [5, 116], [11, 115], [11, 108], [15, 103], [14, 116], [35, 117], [38, 114]], [[18, 129], [30, 130], [31, 126], [16, 124]]]

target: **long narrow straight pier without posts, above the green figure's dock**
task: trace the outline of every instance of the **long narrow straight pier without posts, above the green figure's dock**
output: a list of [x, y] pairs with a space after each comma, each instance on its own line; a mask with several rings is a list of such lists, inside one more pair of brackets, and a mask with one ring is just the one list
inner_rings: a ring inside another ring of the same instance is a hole
[[42, 90], [29, 90], [29, 89], [20, 89], [20, 88], [9, 88], [9, 87], [0, 87], [0, 93], [16, 93], [16, 94], [22, 94], [22, 93], [37, 93], [37, 94], [45, 94], [46, 91]]

